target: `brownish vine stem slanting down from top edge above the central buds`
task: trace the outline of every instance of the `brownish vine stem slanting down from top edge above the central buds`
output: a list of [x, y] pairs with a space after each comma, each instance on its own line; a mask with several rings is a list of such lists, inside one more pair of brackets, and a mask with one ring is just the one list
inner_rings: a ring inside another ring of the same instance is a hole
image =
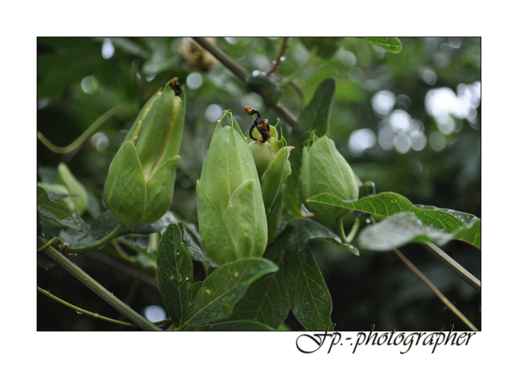
[[[215, 58], [220, 60], [220, 62], [227, 67], [230, 71], [232, 71], [236, 76], [242, 81], [246, 82], [247, 76], [250, 74], [246, 69], [237, 64], [231, 57], [223, 52], [217, 45], [209, 42], [205, 39], [205, 37], [193, 37], [193, 39], [198, 42], [204, 49], [214, 55]], [[266, 89], [261, 86], [255, 86], [254, 92], [258, 93], [263, 97], [264, 102], [273, 109], [279, 116], [286, 122], [286, 124], [290, 125], [292, 128], [297, 124], [297, 119], [292, 113], [287, 110], [281, 103], [275, 103], [272, 100], [271, 96], [268, 94]]]

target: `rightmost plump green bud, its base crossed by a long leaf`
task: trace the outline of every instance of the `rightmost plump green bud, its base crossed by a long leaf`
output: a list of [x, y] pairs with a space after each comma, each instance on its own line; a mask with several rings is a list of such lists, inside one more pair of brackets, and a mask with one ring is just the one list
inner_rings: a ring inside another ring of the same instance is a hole
[[358, 199], [356, 176], [346, 159], [336, 149], [335, 142], [326, 135], [316, 140], [311, 147], [303, 149], [300, 194], [306, 208], [322, 220], [334, 220], [352, 210], [305, 202], [308, 198], [319, 194], [332, 194], [344, 201]]

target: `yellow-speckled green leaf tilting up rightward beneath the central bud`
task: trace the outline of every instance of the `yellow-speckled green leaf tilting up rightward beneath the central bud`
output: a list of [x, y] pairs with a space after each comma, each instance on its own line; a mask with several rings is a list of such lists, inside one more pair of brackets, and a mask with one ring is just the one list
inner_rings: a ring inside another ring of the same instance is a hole
[[189, 325], [228, 317], [252, 282], [277, 270], [274, 263], [263, 258], [239, 259], [215, 269], [196, 294]]

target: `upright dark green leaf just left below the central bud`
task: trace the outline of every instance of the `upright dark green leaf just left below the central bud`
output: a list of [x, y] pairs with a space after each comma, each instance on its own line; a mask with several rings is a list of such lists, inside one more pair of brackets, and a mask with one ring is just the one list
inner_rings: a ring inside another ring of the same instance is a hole
[[193, 265], [182, 244], [180, 226], [167, 226], [156, 253], [156, 276], [160, 295], [176, 327], [189, 318]]

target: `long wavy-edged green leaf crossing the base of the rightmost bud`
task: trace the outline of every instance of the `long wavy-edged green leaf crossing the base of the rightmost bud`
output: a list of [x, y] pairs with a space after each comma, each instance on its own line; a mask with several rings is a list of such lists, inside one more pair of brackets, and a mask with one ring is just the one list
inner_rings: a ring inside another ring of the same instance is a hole
[[308, 198], [308, 202], [325, 203], [342, 208], [352, 208], [380, 217], [390, 217], [396, 213], [413, 212], [423, 223], [454, 233], [466, 224], [452, 213], [441, 210], [416, 207], [408, 198], [392, 192], [360, 198], [357, 201], [343, 201], [332, 194], [320, 194]]

